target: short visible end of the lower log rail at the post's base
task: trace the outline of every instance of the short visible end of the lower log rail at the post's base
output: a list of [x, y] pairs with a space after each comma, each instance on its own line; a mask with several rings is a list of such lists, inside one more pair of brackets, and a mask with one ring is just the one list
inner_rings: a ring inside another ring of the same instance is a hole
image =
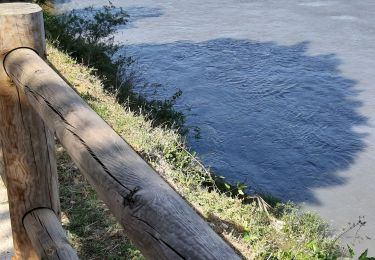
[[23, 224], [39, 259], [78, 259], [52, 210], [35, 209], [25, 215]]

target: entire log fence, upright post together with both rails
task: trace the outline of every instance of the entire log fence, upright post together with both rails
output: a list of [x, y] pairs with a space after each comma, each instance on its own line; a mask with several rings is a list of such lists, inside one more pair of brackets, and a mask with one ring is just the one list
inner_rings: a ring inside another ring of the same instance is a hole
[[[43, 59], [41, 17], [36, 5], [0, 4], [0, 137], [13, 236], [20, 259], [30, 255], [43, 259], [77, 258], [57, 221], [56, 164], [50, 133], [61, 142], [144, 256], [149, 259], [239, 259], [48, 66]], [[8, 77], [16, 87], [10, 85]], [[18, 149], [23, 146], [23, 150]], [[20, 161], [22, 167], [17, 167]], [[33, 193], [35, 189], [40, 192]], [[19, 208], [12, 203], [15, 200], [12, 196], [17, 192], [22, 194], [22, 199], [31, 195], [29, 199], [33, 203], [12, 214]], [[49, 199], [45, 201], [45, 197]], [[14, 229], [14, 218], [22, 226]], [[25, 239], [18, 241], [19, 234]], [[21, 248], [24, 244], [28, 245], [26, 251]]]

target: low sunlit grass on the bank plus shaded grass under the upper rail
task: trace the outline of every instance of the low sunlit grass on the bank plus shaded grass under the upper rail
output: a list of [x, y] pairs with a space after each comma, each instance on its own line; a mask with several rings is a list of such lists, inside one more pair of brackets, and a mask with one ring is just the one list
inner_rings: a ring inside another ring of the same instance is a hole
[[[257, 200], [213, 177], [190, 153], [183, 137], [155, 126], [118, 104], [95, 70], [48, 44], [48, 59], [77, 93], [199, 212], [243, 258], [337, 259], [346, 252], [317, 215], [275, 202], [265, 211]], [[63, 225], [82, 259], [142, 259], [106, 206], [57, 148]]]

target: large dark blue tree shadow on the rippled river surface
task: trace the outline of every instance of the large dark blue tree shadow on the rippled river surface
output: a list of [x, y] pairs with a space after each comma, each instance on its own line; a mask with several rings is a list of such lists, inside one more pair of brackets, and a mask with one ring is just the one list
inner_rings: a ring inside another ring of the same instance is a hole
[[[216, 39], [126, 46], [147, 81], [183, 91], [189, 145], [230, 181], [286, 200], [320, 204], [312, 189], [343, 185], [364, 149], [356, 82], [335, 54], [310, 56], [308, 42]], [[142, 90], [147, 92], [147, 90]], [[153, 91], [153, 90], [150, 90]]]

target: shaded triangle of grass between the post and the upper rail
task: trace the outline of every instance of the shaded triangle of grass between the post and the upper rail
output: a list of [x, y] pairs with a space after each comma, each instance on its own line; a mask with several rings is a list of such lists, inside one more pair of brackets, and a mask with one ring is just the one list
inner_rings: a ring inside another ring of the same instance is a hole
[[143, 259], [96, 192], [58, 148], [63, 227], [81, 259]]

